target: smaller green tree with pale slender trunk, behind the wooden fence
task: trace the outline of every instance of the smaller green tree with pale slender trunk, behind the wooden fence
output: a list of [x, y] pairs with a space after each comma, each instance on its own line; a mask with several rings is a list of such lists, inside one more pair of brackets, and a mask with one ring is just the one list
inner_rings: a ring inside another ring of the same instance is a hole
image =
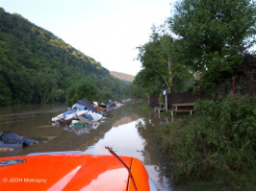
[[159, 90], [166, 86], [169, 92], [173, 92], [180, 90], [180, 86], [173, 84], [177, 82], [175, 79], [179, 79], [181, 84], [192, 79], [192, 71], [178, 60], [175, 40], [167, 33], [162, 35], [153, 27], [149, 42], [139, 47], [139, 51], [138, 60], [141, 60], [142, 70], [135, 84], [150, 88], [159, 84]]

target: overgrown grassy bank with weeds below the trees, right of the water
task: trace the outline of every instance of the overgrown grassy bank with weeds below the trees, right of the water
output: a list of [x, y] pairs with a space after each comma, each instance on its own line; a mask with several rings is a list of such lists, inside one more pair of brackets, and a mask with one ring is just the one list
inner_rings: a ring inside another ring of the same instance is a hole
[[203, 101], [195, 115], [161, 127], [157, 139], [173, 184], [184, 190], [256, 190], [255, 107], [255, 99]]

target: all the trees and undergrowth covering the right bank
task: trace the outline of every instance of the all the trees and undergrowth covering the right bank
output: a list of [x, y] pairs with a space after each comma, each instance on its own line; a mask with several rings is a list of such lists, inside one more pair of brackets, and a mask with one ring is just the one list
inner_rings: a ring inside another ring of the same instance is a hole
[[250, 0], [179, 0], [139, 47], [134, 95], [201, 87], [195, 115], [157, 132], [176, 186], [256, 189], [255, 15]]

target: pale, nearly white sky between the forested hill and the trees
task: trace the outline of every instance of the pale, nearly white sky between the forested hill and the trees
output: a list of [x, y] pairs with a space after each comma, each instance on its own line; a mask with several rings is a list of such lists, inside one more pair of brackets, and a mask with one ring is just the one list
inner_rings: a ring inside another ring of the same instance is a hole
[[0, 0], [0, 7], [21, 14], [107, 69], [136, 75], [141, 70], [136, 47], [148, 41], [153, 24], [159, 26], [170, 16], [173, 2]]

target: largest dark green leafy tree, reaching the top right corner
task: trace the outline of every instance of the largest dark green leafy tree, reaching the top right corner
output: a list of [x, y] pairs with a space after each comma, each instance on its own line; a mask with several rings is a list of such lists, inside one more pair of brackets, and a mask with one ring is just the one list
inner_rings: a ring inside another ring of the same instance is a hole
[[179, 60], [200, 72], [203, 89], [239, 73], [243, 54], [239, 47], [255, 43], [256, 4], [250, 0], [182, 0], [168, 19], [178, 36]]

